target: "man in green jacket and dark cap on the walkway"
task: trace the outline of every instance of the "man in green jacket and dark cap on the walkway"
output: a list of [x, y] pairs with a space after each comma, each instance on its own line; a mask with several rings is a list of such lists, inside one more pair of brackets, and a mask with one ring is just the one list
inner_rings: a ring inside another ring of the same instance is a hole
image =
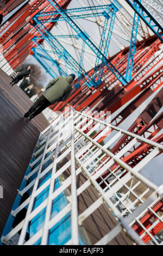
[[29, 111], [24, 114], [24, 118], [27, 118], [30, 121], [36, 115], [40, 114], [46, 107], [51, 106], [55, 102], [68, 99], [72, 91], [71, 83], [75, 77], [76, 75], [70, 74], [67, 77], [59, 76], [51, 80], [46, 87], [45, 93], [39, 97]]

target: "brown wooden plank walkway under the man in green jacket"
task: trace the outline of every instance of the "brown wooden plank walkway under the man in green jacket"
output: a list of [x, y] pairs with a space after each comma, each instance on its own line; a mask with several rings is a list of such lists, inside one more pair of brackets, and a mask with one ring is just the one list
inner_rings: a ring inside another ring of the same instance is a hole
[[33, 102], [0, 69], [0, 235], [8, 219], [40, 132], [49, 124], [43, 114], [32, 121], [23, 118]]

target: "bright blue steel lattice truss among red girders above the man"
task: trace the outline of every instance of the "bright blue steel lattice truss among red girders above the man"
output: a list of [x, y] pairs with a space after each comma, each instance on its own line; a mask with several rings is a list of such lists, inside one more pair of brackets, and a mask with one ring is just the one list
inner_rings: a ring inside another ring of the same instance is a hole
[[[116, 18], [116, 13], [118, 11], [115, 3], [111, 3], [108, 5], [98, 5], [93, 7], [84, 7], [84, 8], [74, 8], [74, 9], [67, 9], [64, 10], [60, 7], [60, 5], [55, 0], [48, 0], [49, 3], [53, 5], [55, 11], [48, 11], [37, 13], [33, 18], [35, 21], [35, 27], [37, 31], [39, 31], [41, 38], [45, 39], [49, 45], [52, 46], [55, 53], [58, 54], [59, 58], [65, 60], [67, 66], [70, 69], [73, 69], [78, 74], [78, 82], [83, 80], [88, 87], [97, 87], [99, 83], [102, 81], [104, 66], [106, 66], [112, 74], [116, 76], [116, 78], [122, 83], [123, 86], [126, 85], [132, 78], [132, 69], [133, 69], [133, 62], [134, 62], [134, 54], [135, 54], [135, 47], [136, 47], [136, 36], [139, 26], [139, 19], [140, 17], [147, 23], [147, 25], [152, 29], [152, 31], [159, 37], [162, 41], [162, 28], [159, 23], [152, 17], [149, 11], [146, 10], [145, 7], [141, 4], [141, 1], [137, 0], [126, 0], [126, 2], [134, 9], [134, 21], [133, 21], [133, 31], [131, 34], [130, 40], [130, 48], [129, 48], [129, 56], [127, 62], [127, 69], [126, 69], [126, 76], [123, 76], [120, 71], [116, 69], [114, 65], [107, 59], [108, 57], [108, 50], [109, 44], [112, 35], [112, 29], [114, 27], [114, 22]], [[96, 12], [96, 13], [87, 13], [83, 14], [84, 11], [93, 11], [93, 10], [104, 10], [103, 12]], [[111, 13], [111, 15], [110, 15]], [[57, 15], [60, 15], [57, 17]], [[99, 43], [99, 47], [97, 47], [89, 38], [89, 35], [81, 29], [77, 23], [74, 22], [76, 19], [80, 18], [87, 18], [87, 17], [95, 17], [95, 16], [105, 16], [105, 22], [103, 26], [103, 31], [101, 35], [101, 41]], [[108, 29], [108, 21], [110, 19], [110, 27]], [[77, 34], [70, 34], [70, 35], [52, 35], [51, 32], [43, 25], [46, 22], [58, 22], [58, 21], [66, 21]], [[66, 49], [60, 44], [57, 40], [58, 38], [82, 38], [83, 39], [83, 46], [82, 52], [80, 56], [80, 63], [78, 63], [70, 53], [66, 51]], [[106, 38], [105, 45], [104, 39]], [[39, 38], [37, 38], [39, 39]], [[84, 51], [85, 51], [85, 44], [87, 44], [91, 50], [96, 54], [96, 62], [95, 62], [95, 69], [93, 70], [92, 77], [87, 74], [87, 72], [83, 69], [83, 58], [84, 58]], [[37, 57], [41, 58], [41, 54], [37, 53]], [[43, 58], [43, 56], [42, 56]], [[46, 51], [45, 59], [51, 60], [53, 65], [55, 64], [59, 70], [60, 75], [66, 75], [67, 72], [64, 72], [59, 64], [52, 59], [52, 57]], [[99, 65], [99, 61], [101, 60], [101, 65]], [[40, 60], [39, 60], [40, 61]], [[45, 63], [43, 62], [45, 66]], [[49, 68], [47, 68], [49, 70]], [[50, 71], [52, 74], [52, 71]], [[98, 77], [97, 77], [98, 75]]]

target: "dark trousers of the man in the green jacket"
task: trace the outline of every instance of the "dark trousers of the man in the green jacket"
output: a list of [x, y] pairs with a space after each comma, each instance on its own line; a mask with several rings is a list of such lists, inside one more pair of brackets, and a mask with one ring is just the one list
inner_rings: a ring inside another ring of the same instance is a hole
[[46, 99], [43, 95], [36, 100], [34, 105], [29, 109], [28, 113], [30, 116], [36, 117], [36, 115], [40, 114], [45, 108], [51, 106], [52, 103]]

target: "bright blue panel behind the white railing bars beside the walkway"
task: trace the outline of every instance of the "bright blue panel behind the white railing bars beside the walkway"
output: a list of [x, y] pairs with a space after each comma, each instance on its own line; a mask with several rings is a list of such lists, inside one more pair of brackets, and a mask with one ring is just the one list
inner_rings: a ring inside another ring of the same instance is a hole
[[[47, 154], [47, 156], [49, 153]], [[41, 161], [41, 160], [40, 160]], [[37, 164], [33, 167], [35, 168], [38, 164], [40, 164], [40, 161], [37, 162]], [[50, 164], [52, 164], [52, 160], [48, 160], [45, 164], [43, 164], [42, 172], [45, 170]], [[39, 183], [39, 187], [44, 184], [50, 177], [52, 173], [52, 168], [49, 170], [49, 172], [42, 177]], [[33, 175], [32, 181], [35, 177], [36, 174]], [[61, 186], [61, 182], [59, 178], [55, 180], [55, 190]], [[32, 191], [31, 191], [32, 192]], [[49, 186], [45, 188], [35, 199], [34, 203], [34, 209], [39, 206], [43, 200], [45, 200], [48, 197], [49, 193]], [[65, 193], [62, 192], [59, 194], [57, 198], [53, 200], [53, 206], [52, 206], [52, 214], [51, 218], [56, 216], [62, 209], [65, 208], [65, 206], [68, 204]], [[46, 214], [46, 208], [43, 209], [37, 216], [35, 216], [32, 221], [30, 221], [29, 227], [28, 227], [28, 232], [29, 232], [29, 237], [32, 237], [34, 234], [39, 231], [44, 224], [45, 221], [45, 214]], [[48, 240], [48, 245], [64, 245], [68, 240], [71, 239], [71, 212], [69, 212], [67, 215], [65, 215], [64, 218], [62, 218], [57, 224], [54, 225], [54, 227], [49, 230], [49, 240]], [[82, 240], [79, 237], [79, 243], [80, 245], [84, 244]], [[35, 243], [35, 245], [40, 245], [41, 244], [41, 239]]]

